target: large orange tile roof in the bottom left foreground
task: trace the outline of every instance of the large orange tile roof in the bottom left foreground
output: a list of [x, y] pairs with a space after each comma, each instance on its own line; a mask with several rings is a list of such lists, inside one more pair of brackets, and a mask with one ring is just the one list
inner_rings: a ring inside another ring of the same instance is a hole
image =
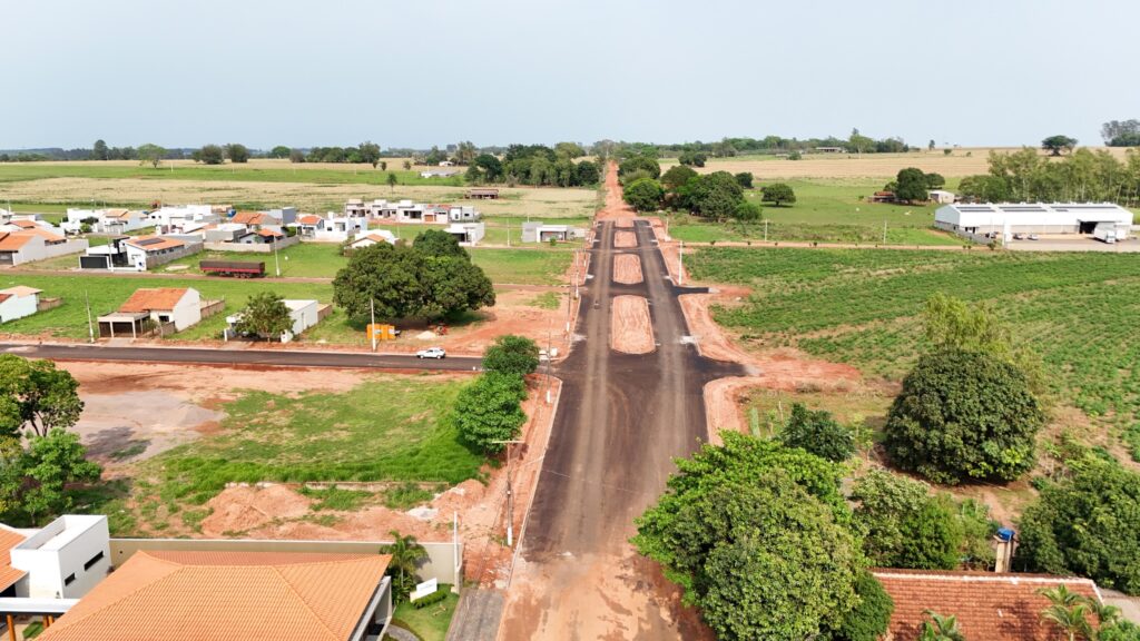
[[136, 552], [43, 641], [347, 641], [388, 569], [380, 554]]

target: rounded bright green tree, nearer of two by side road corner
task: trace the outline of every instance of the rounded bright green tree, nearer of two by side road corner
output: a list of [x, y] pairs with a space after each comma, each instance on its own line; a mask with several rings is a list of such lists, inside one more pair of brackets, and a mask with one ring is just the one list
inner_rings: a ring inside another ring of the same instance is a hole
[[459, 439], [486, 454], [497, 454], [503, 441], [519, 436], [527, 415], [519, 403], [527, 398], [527, 384], [514, 373], [486, 372], [463, 388], [451, 413]]

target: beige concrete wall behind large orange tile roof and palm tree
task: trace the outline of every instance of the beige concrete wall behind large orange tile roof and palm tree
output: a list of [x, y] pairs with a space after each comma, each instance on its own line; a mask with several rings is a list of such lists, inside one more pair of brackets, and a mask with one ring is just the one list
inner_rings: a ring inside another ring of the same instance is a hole
[[[139, 550], [170, 552], [310, 552], [324, 554], [378, 554], [391, 541], [256, 541], [249, 538], [112, 538], [111, 563], [121, 566]], [[420, 566], [420, 577], [440, 583], [462, 584], [463, 544], [425, 543], [427, 561]], [[456, 579], [459, 581], [456, 581]]]

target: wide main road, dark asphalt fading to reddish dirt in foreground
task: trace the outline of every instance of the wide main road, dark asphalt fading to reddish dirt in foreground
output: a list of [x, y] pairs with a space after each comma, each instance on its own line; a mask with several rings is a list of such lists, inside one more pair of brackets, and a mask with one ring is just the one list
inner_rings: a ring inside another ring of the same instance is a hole
[[[610, 181], [616, 186], [612, 170]], [[645, 221], [634, 224], [636, 246], [614, 248], [612, 220], [629, 216], [614, 213], [598, 217], [577, 326], [584, 343], [557, 368], [562, 404], [499, 639], [709, 636], [628, 538], [634, 518], [663, 490], [673, 459], [706, 439], [705, 383], [743, 368], [706, 359], [685, 340], [677, 297], [703, 290], [674, 286]], [[643, 283], [613, 282], [613, 259], [625, 253], [640, 257]], [[649, 301], [660, 343], [652, 352], [610, 349], [610, 307], [619, 295]]]

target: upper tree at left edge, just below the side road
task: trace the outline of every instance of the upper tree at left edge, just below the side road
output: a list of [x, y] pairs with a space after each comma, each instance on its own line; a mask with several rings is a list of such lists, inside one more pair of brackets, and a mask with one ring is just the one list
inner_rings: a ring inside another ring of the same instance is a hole
[[51, 360], [0, 355], [0, 437], [46, 436], [79, 421], [79, 382]]

